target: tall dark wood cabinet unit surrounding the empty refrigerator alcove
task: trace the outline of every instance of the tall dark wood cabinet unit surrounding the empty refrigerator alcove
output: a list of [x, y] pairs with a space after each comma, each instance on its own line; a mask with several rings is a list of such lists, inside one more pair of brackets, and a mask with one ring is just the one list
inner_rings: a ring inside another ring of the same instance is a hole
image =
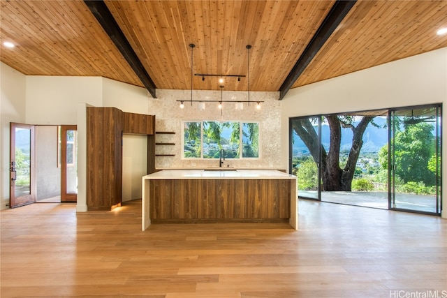
[[[153, 115], [122, 112], [115, 107], [87, 107], [87, 208], [110, 210], [122, 202], [123, 133], [154, 135]], [[154, 161], [155, 149], [147, 148]]]

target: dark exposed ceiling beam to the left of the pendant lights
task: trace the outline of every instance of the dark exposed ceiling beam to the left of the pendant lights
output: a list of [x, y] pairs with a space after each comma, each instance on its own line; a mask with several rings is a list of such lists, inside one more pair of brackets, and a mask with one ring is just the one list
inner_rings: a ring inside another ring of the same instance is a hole
[[142, 66], [140, 59], [131, 47], [129, 41], [124, 36], [124, 33], [119, 28], [115, 18], [103, 1], [84, 0], [89, 7], [91, 13], [96, 17], [99, 24], [103, 27], [105, 33], [110, 36], [110, 39], [115, 43], [119, 52], [124, 56], [124, 59], [129, 63], [135, 74], [140, 78], [142, 84], [145, 85], [147, 91], [156, 98], [155, 84], [147, 73], [144, 66]]

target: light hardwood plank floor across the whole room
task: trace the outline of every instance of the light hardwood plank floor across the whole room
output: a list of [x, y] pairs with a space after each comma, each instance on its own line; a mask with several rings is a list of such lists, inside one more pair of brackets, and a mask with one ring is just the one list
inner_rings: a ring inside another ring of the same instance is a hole
[[298, 231], [165, 224], [142, 232], [140, 210], [137, 200], [78, 214], [75, 204], [1, 211], [1, 297], [447, 297], [439, 217], [302, 200]]

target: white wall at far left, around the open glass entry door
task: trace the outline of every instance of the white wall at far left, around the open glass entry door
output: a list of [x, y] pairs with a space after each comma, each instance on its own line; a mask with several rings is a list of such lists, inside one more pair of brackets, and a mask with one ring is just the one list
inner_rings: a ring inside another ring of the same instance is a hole
[[0, 62], [0, 209], [9, 204], [9, 123], [26, 122], [26, 79]]

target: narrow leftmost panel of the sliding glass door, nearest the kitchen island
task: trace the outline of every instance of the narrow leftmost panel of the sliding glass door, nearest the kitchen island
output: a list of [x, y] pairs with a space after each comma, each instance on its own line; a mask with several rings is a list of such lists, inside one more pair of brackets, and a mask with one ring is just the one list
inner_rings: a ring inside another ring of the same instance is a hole
[[291, 174], [298, 177], [300, 198], [321, 200], [321, 117], [291, 119]]

